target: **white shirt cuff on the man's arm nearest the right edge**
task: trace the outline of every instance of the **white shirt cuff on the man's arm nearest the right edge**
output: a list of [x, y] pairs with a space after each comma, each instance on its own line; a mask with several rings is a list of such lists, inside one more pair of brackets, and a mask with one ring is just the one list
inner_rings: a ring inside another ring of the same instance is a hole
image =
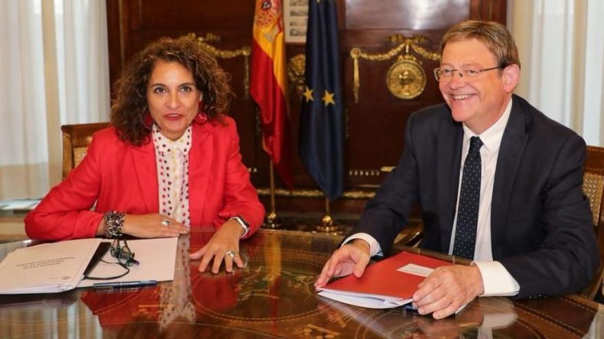
[[480, 297], [511, 297], [520, 292], [520, 285], [500, 262], [472, 262], [483, 276], [485, 293]]

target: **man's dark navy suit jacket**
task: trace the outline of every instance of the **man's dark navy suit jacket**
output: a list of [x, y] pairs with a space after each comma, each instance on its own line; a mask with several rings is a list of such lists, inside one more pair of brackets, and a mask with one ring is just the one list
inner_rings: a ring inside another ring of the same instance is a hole
[[[512, 100], [493, 184], [493, 260], [518, 281], [518, 297], [577, 292], [599, 265], [590, 205], [581, 190], [585, 142], [524, 99]], [[387, 253], [419, 201], [419, 246], [448, 253], [462, 142], [463, 127], [447, 105], [410, 116], [402, 157], [352, 233], [370, 234]]]

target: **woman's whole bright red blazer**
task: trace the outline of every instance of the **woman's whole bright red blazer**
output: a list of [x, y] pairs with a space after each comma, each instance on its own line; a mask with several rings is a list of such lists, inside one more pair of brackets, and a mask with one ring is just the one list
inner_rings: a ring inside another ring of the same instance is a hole
[[[252, 234], [264, 207], [242, 163], [235, 121], [225, 117], [224, 123], [192, 125], [191, 227], [218, 228], [231, 216], [242, 216]], [[158, 190], [153, 143], [135, 147], [108, 127], [94, 134], [82, 163], [27, 214], [25, 231], [34, 239], [91, 238], [105, 212], [157, 213]]]

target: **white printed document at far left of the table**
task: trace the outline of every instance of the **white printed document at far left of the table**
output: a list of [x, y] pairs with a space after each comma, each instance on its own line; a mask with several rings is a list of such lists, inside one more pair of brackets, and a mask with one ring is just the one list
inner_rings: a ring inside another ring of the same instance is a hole
[[0, 294], [53, 293], [78, 285], [101, 239], [78, 239], [17, 249], [0, 263]]

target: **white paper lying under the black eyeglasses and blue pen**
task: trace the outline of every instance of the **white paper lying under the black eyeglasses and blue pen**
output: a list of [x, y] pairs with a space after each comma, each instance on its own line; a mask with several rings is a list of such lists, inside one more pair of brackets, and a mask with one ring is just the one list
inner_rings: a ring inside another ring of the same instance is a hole
[[[111, 242], [112, 240], [106, 240]], [[124, 242], [121, 241], [121, 245]], [[124, 281], [171, 281], [174, 280], [174, 265], [176, 263], [176, 247], [178, 238], [156, 238], [128, 240], [130, 251], [135, 253], [135, 259], [141, 262], [139, 265], [130, 266], [130, 273], [124, 277], [112, 280], [90, 280], [83, 279], [78, 287], [90, 287], [95, 283], [124, 282]], [[116, 258], [107, 251], [103, 256], [106, 262], [117, 262]], [[117, 264], [99, 262], [89, 273], [91, 277], [112, 277], [124, 273], [124, 268]]]

